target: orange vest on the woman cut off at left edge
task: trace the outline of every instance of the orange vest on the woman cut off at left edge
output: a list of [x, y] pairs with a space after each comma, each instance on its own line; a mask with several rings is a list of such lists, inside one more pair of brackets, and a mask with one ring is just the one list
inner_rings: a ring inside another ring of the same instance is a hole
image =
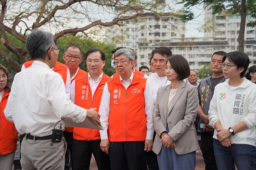
[[0, 155], [5, 155], [16, 151], [18, 132], [14, 123], [9, 122], [5, 115], [4, 109], [10, 92], [5, 91], [0, 103]]

